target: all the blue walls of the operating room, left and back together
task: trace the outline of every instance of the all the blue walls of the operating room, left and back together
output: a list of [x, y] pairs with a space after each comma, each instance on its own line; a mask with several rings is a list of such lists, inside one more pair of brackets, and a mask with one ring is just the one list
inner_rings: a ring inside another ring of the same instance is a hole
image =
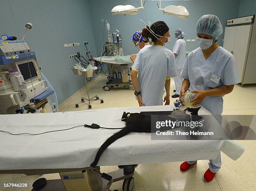
[[[59, 103], [66, 100], [82, 86], [81, 76], [75, 76], [71, 67], [74, 61], [68, 56], [80, 51], [84, 54], [84, 41], [89, 41], [92, 54], [100, 56], [102, 46], [103, 23], [110, 23], [110, 32], [119, 29], [123, 36], [125, 55], [136, 53], [131, 37], [135, 31], [145, 25], [140, 21], [164, 20], [169, 25], [172, 42], [167, 45], [172, 49], [175, 43], [173, 32], [182, 28], [185, 39], [195, 39], [195, 25], [201, 15], [215, 14], [220, 18], [223, 28], [228, 18], [251, 15], [256, 12], [256, 0], [189, 0], [162, 1], [162, 8], [168, 5], [183, 5], [190, 13], [188, 19], [163, 15], [158, 10], [155, 0], [148, 0], [145, 9], [138, 15], [111, 15], [116, 5], [140, 6], [139, 0], [0, 0], [0, 34], [22, 38], [27, 22], [33, 23], [33, 30], [27, 32], [26, 41], [36, 52], [42, 72], [49, 79], [57, 92]], [[240, 8], [240, 10], [239, 10]], [[224, 33], [220, 36], [222, 45]], [[105, 30], [105, 41], [107, 31]], [[79, 42], [79, 47], [64, 48], [64, 43]], [[187, 51], [197, 48], [197, 43], [187, 43]]]

